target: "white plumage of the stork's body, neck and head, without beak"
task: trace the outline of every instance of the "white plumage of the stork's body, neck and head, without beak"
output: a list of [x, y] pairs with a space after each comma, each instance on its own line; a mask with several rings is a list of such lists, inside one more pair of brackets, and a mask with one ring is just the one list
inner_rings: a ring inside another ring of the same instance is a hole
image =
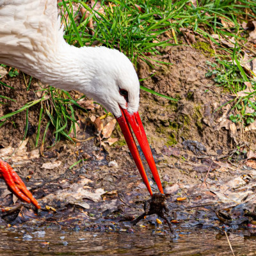
[[[56, 0], [0, 0], [0, 63], [64, 90], [77, 90], [121, 116], [138, 111], [140, 85], [131, 61], [106, 47], [68, 45]], [[119, 90], [128, 92], [129, 102]]]

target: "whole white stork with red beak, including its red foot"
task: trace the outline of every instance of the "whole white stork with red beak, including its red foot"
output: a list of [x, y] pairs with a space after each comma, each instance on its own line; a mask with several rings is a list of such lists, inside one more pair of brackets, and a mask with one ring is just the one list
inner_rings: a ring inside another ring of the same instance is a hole
[[[140, 84], [131, 61], [106, 47], [74, 47], [63, 38], [56, 0], [0, 0], [0, 63], [63, 90], [77, 90], [115, 116], [148, 192], [152, 189], [133, 130], [148, 166], [163, 193], [161, 180], [140, 115]], [[40, 205], [20, 177], [0, 161], [0, 177], [20, 200]]]

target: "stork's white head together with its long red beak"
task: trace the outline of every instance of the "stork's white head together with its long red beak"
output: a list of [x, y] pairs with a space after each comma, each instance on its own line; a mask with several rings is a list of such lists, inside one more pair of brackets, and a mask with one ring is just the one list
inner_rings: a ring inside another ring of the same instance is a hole
[[106, 47], [91, 48], [90, 54], [93, 56], [90, 58], [90, 61], [93, 62], [90, 65], [94, 70], [91, 72], [92, 77], [90, 77], [91, 90], [87, 94], [115, 115], [141, 177], [150, 195], [152, 195], [147, 174], [132, 136], [132, 128], [156, 184], [160, 192], [163, 193], [156, 164], [138, 113], [140, 83], [131, 61], [122, 52]]

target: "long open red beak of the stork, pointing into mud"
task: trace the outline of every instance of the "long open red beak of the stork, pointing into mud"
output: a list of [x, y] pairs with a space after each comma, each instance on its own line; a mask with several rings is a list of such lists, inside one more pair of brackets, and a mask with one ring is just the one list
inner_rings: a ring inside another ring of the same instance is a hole
[[[159, 191], [163, 194], [164, 192], [163, 192], [161, 180], [159, 178], [159, 174], [157, 172], [156, 163], [152, 156], [152, 152], [150, 150], [147, 136], [145, 134], [145, 130], [143, 128], [139, 113], [136, 112], [136, 113], [130, 114], [127, 111], [127, 109], [123, 109], [121, 107], [120, 109], [122, 112], [122, 116], [116, 118], [116, 120], [120, 125], [120, 128], [124, 134], [125, 141], [129, 147], [129, 150], [131, 151], [134, 162], [136, 163], [136, 166], [140, 172], [143, 182], [145, 183], [148, 189], [148, 192], [150, 193], [150, 195], [153, 194], [152, 189], [150, 188], [150, 184], [148, 182], [147, 174], [145, 172], [145, 169], [143, 167], [143, 164], [140, 158], [140, 154], [138, 152], [138, 148], [132, 136], [132, 131], [134, 132], [138, 140], [138, 143], [140, 144], [141, 150], [147, 160], [148, 166], [152, 172], [154, 180], [156, 181], [157, 187]], [[129, 125], [131, 125], [132, 131]]]

